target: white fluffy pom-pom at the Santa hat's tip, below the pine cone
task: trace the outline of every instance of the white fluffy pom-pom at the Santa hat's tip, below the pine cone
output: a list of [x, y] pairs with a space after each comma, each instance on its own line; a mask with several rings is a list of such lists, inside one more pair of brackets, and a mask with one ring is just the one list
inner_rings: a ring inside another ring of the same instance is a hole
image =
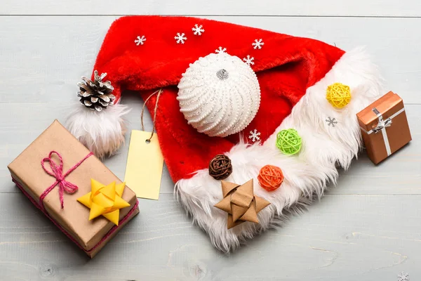
[[114, 155], [124, 143], [126, 105], [111, 105], [100, 112], [80, 106], [69, 115], [66, 127], [98, 158]]

